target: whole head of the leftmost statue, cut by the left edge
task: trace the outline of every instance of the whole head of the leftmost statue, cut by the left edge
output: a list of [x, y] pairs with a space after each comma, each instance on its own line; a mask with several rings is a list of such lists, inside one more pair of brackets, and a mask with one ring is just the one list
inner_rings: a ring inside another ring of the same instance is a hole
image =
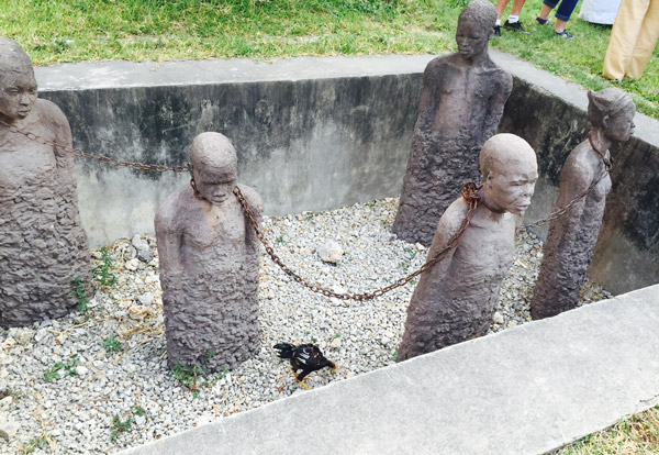
[[12, 123], [26, 118], [36, 96], [30, 57], [14, 41], [0, 37], [0, 120]]

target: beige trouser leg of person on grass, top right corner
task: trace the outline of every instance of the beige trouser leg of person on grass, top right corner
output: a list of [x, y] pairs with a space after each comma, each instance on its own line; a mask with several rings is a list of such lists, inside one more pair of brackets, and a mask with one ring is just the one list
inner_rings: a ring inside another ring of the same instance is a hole
[[602, 68], [608, 79], [622, 80], [625, 76], [649, 5], [650, 0], [623, 0], [621, 3]]

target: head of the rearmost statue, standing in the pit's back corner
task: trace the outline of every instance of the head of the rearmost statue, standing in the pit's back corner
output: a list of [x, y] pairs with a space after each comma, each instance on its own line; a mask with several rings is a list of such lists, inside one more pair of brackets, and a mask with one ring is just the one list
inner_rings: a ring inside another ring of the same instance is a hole
[[456, 42], [462, 58], [473, 59], [488, 52], [488, 42], [494, 35], [496, 9], [487, 0], [472, 0], [458, 18]]

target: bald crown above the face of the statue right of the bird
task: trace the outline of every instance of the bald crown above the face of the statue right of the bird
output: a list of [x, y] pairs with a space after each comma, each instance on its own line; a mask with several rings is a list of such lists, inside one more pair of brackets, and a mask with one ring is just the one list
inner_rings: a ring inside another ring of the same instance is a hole
[[522, 137], [502, 133], [490, 137], [483, 144], [479, 166], [484, 179], [492, 173], [504, 173], [515, 164], [524, 164], [537, 169], [535, 151]]

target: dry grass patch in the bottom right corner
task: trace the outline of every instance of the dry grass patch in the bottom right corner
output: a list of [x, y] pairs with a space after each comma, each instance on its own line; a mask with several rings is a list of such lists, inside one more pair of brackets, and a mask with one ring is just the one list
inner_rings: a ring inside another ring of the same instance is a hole
[[659, 453], [659, 406], [621, 419], [612, 429], [563, 447], [559, 455], [650, 455]]

